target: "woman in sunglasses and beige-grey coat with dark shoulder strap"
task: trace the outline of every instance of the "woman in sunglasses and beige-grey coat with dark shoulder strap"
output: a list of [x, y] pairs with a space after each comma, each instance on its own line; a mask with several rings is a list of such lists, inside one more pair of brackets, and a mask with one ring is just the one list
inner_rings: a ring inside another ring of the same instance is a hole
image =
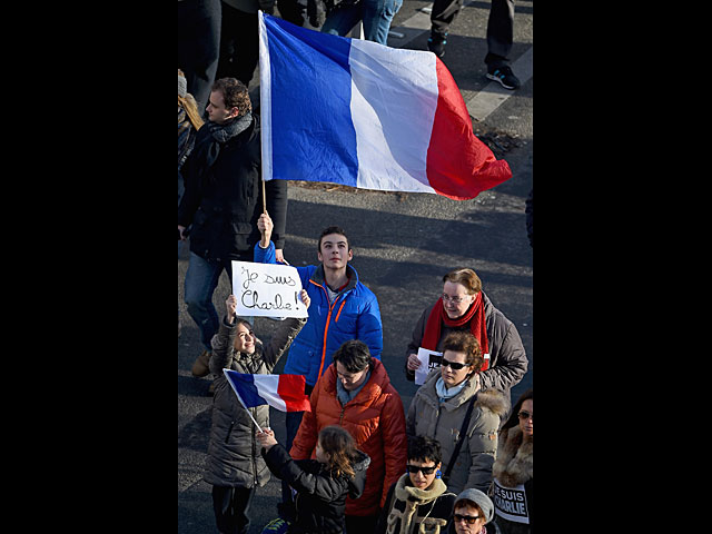
[[451, 332], [443, 339], [443, 359], [418, 388], [408, 407], [408, 439], [437, 439], [443, 476], [455, 493], [466, 487], [486, 492], [497, 451], [497, 431], [508, 402], [498, 389], [482, 387], [484, 358], [469, 332]]

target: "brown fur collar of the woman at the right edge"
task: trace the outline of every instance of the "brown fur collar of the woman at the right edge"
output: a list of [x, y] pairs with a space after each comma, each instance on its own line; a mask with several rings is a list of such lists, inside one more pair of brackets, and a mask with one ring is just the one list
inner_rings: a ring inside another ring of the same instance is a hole
[[518, 426], [500, 433], [497, 459], [492, 474], [501, 484], [514, 487], [534, 477], [534, 442], [524, 441]]

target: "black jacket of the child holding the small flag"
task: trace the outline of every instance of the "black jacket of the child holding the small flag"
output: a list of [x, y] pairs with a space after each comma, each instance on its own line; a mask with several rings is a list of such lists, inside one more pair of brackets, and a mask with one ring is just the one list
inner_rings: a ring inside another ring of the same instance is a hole
[[358, 451], [353, 464], [356, 475], [333, 477], [316, 459], [293, 459], [287, 449], [277, 444], [263, 456], [271, 473], [297, 491], [296, 518], [289, 534], [342, 534], [346, 523], [346, 496], [358, 498], [364, 493], [368, 455]]

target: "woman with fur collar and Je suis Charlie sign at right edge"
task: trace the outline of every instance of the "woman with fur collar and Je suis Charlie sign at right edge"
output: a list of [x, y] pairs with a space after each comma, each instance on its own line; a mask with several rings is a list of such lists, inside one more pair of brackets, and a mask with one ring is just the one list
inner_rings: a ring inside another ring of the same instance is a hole
[[495, 522], [503, 534], [530, 534], [534, 496], [534, 393], [522, 394], [500, 431], [492, 473]]

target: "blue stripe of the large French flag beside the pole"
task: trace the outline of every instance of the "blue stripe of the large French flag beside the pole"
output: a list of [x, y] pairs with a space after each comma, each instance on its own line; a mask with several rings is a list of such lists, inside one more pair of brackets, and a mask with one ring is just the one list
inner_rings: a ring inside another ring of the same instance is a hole
[[355, 187], [350, 39], [270, 16], [264, 20], [271, 79], [273, 178]]

